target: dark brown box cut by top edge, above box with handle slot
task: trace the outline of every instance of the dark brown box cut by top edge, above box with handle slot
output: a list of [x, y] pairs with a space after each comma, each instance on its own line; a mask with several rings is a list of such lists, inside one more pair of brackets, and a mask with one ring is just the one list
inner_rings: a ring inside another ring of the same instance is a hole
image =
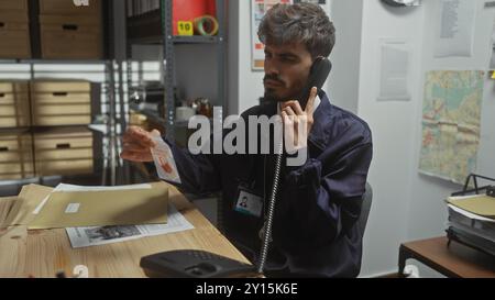
[[[88, 18], [101, 16], [101, 0], [79, 1], [80, 5], [76, 5], [73, 0], [40, 0], [40, 14], [85, 14]], [[76, 1], [77, 2], [77, 1]]]

